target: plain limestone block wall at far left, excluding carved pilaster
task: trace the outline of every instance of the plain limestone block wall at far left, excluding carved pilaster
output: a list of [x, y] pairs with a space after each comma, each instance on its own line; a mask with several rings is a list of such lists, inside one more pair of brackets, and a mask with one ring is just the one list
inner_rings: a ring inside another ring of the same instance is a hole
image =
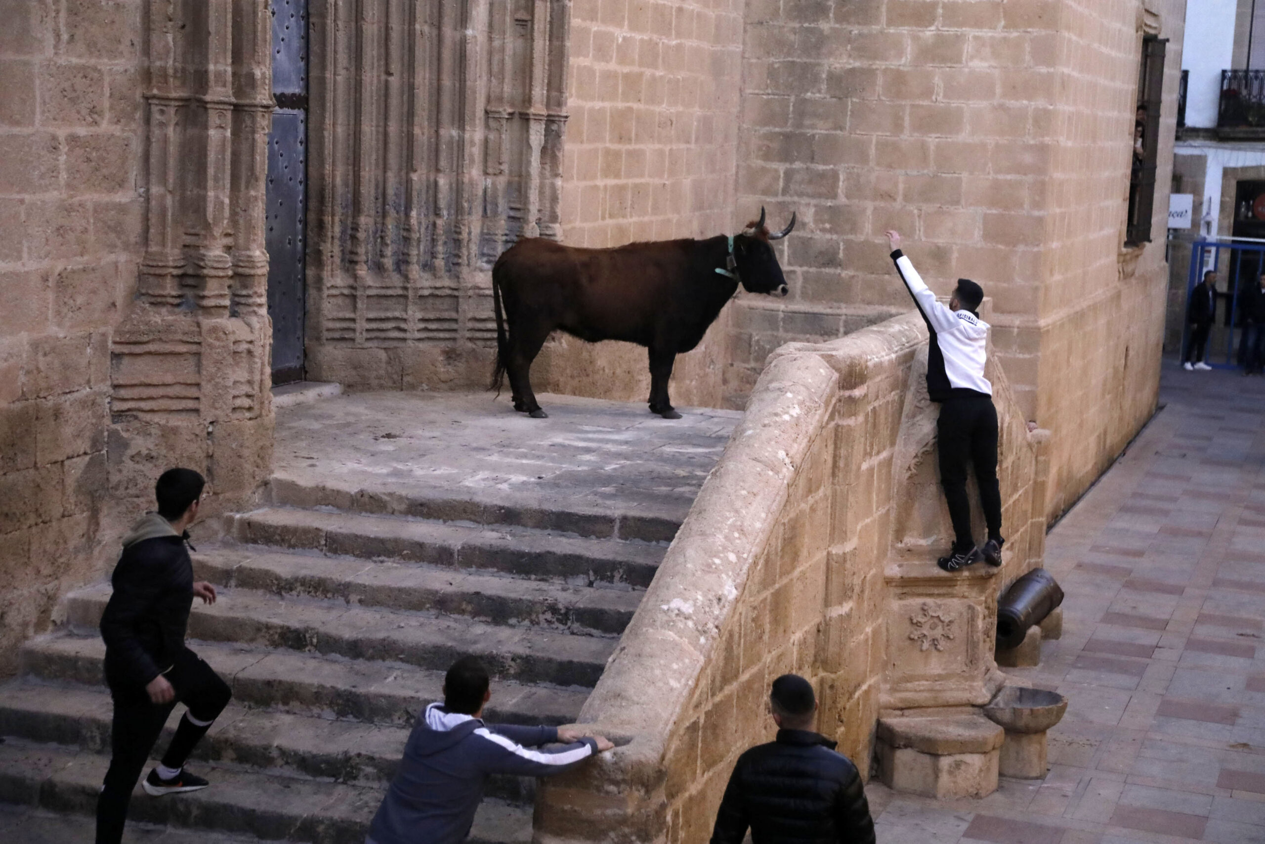
[[110, 342], [140, 257], [140, 11], [0, 3], [0, 676], [96, 574]]

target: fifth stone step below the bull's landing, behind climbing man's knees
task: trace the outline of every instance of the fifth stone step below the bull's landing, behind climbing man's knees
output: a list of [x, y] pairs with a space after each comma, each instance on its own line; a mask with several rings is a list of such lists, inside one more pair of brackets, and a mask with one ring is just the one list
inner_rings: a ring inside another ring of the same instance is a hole
[[[110, 693], [104, 687], [35, 683], [27, 680], [0, 686], [0, 735], [28, 742], [110, 752]], [[154, 758], [162, 755], [183, 714], [176, 707]], [[229, 704], [194, 749], [202, 762], [233, 762], [277, 774], [316, 777], [340, 783], [390, 782], [400, 764], [409, 729], [271, 712]], [[488, 777], [487, 793], [530, 802], [535, 781]]]

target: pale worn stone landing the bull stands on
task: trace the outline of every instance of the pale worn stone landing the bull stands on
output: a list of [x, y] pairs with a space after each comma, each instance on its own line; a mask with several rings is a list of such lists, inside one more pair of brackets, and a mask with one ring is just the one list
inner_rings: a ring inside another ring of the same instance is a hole
[[457, 487], [478, 506], [679, 524], [741, 419], [700, 407], [665, 420], [640, 405], [576, 396], [541, 401], [549, 419], [517, 414], [507, 394], [490, 392], [368, 392], [286, 407], [273, 476], [281, 486], [378, 500], [450, 499]]

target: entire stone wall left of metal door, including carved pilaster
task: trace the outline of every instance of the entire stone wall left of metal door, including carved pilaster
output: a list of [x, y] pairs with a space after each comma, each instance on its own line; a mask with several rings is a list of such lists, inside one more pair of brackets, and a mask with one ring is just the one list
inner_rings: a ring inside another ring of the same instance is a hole
[[0, 674], [171, 466], [272, 448], [254, 0], [0, 3]]

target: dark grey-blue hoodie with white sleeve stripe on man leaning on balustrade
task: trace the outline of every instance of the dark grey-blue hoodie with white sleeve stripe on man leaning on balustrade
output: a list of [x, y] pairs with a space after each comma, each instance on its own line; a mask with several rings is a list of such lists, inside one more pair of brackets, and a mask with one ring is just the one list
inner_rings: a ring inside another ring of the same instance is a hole
[[487, 725], [431, 704], [409, 734], [400, 771], [373, 816], [367, 844], [464, 841], [488, 774], [543, 777], [597, 753], [593, 739], [531, 749], [557, 740], [553, 726]]

